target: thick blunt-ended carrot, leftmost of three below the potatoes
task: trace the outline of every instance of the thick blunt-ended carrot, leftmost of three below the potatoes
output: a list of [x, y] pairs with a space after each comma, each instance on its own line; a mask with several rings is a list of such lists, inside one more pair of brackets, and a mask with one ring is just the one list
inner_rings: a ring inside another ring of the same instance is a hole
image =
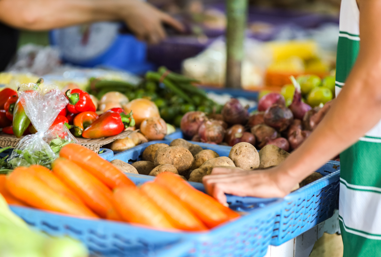
[[125, 186], [114, 190], [114, 206], [125, 221], [155, 228], [175, 228], [166, 214], [138, 187]]

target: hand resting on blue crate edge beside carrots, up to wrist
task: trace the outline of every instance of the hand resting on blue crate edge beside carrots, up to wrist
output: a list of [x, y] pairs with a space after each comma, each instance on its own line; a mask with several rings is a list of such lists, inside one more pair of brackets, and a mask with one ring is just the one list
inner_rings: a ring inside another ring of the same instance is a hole
[[225, 194], [252, 197], [285, 197], [298, 183], [278, 167], [266, 170], [214, 168], [203, 177], [208, 194], [220, 203], [226, 203]]

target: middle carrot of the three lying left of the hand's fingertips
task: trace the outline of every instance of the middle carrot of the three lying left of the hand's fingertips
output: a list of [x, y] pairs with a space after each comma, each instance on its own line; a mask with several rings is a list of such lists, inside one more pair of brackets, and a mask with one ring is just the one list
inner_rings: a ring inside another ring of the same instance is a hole
[[174, 196], [168, 189], [155, 182], [146, 182], [141, 188], [157, 206], [159, 206], [170, 219], [170, 222], [179, 229], [206, 230], [208, 229], [189, 210], [180, 199]]

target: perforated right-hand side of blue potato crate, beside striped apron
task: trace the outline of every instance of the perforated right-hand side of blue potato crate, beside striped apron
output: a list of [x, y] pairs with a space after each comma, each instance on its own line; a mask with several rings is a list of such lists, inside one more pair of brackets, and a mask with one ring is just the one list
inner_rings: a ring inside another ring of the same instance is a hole
[[329, 161], [317, 170], [323, 178], [287, 195], [277, 213], [271, 244], [278, 246], [329, 219], [338, 208], [340, 162]]

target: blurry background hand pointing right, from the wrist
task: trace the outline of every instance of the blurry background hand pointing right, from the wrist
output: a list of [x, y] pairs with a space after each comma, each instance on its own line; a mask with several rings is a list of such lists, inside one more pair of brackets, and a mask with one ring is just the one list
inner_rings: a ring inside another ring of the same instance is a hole
[[149, 3], [131, 0], [128, 10], [122, 11], [122, 19], [139, 40], [157, 44], [166, 37], [163, 23], [172, 26], [179, 32], [184, 31], [183, 25], [173, 17], [158, 10]]

